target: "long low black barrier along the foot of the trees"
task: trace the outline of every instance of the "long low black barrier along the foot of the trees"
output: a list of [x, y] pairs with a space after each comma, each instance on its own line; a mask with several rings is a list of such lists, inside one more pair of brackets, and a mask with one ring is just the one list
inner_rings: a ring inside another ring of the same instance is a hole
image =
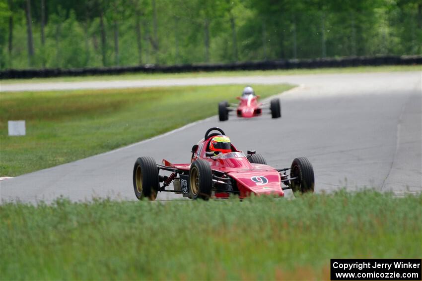
[[0, 71], [0, 79], [36, 77], [107, 75], [122, 73], [178, 73], [197, 71], [272, 70], [294, 68], [347, 67], [365, 65], [415, 65], [422, 64], [422, 56], [355, 56], [341, 58], [281, 59], [245, 61], [234, 63], [194, 63], [177, 65], [145, 64], [139, 66], [7, 69]]

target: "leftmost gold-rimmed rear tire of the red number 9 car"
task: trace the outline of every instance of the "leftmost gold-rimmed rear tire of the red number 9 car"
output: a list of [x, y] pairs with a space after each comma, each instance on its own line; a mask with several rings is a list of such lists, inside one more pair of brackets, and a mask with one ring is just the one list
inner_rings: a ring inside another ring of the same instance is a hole
[[149, 156], [138, 158], [134, 166], [134, 190], [139, 200], [157, 198], [159, 178], [155, 160]]

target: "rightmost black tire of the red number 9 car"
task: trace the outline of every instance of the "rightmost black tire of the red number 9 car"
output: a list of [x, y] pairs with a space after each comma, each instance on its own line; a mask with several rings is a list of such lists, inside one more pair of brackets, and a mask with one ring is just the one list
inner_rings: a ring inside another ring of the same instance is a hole
[[293, 193], [313, 193], [315, 187], [314, 169], [306, 157], [295, 158], [291, 163], [290, 187]]

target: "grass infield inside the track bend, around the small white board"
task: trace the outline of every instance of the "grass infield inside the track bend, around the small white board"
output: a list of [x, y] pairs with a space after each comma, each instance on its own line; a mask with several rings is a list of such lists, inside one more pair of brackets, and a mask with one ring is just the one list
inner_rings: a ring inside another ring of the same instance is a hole
[[[254, 85], [262, 97], [290, 85]], [[0, 93], [0, 175], [15, 176], [106, 152], [217, 114], [238, 85]], [[7, 120], [26, 120], [8, 136]]]

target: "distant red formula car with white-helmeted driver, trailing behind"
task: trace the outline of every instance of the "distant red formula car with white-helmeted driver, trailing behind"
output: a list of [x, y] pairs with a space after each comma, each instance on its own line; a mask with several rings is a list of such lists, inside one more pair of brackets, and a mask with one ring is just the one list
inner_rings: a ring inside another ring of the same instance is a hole
[[243, 89], [239, 104], [229, 104], [224, 101], [218, 104], [218, 118], [220, 121], [228, 120], [230, 112], [236, 112], [238, 117], [251, 118], [262, 115], [263, 111], [271, 112], [273, 118], [281, 117], [281, 105], [279, 99], [273, 99], [270, 103], [260, 103], [259, 96], [255, 95], [252, 87]]

